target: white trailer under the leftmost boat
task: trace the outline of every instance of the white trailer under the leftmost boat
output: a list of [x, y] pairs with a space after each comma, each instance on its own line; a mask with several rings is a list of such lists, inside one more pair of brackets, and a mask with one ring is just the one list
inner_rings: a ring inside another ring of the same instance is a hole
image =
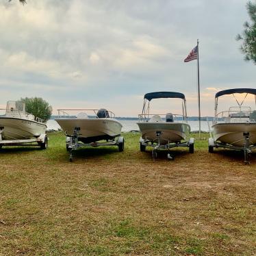
[[[38, 138], [24, 138], [20, 140], [3, 140], [2, 133], [4, 127], [0, 127], [0, 149], [3, 146], [40, 146], [41, 149], [47, 149], [48, 138], [47, 134], [41, 134]], [[38, 144], [32, 144], [37, 142]]]

